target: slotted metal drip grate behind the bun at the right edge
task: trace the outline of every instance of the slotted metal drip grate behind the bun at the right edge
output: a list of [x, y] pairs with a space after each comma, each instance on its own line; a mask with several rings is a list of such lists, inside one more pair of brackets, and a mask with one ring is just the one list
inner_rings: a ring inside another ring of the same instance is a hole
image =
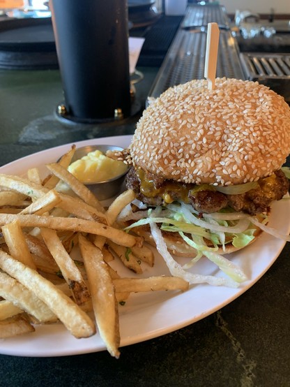
[[290, 54], [244, 52], [240, 57], [248, 80], [270, 87], [290, 104]]

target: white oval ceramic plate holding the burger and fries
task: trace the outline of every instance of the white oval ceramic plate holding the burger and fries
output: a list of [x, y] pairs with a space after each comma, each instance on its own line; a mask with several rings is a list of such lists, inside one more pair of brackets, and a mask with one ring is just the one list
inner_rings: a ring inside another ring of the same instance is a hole
[[[131, 136], [118, 136], [85, 140], [76, 143], [78, 147], [92, 144], [118, 145], [126, 147]], [[0, 173], [22, 175], [28, 168], [38, 166], [45, 170], [45, 163], [56, 161], [70, 148], [70, 144], [47, 149], [13, 161], [0, 168]], [[282, 233], [290, 231], [290, 201], [282, 200], [273, 205], [270, 226]], [[241, 265], [248, 276], [247, 282], [238, 289], [207, 284], [192, 286], [185, 293], [152, 292], [130, 295], [125, 306], [120, 307], [121, 346], [135, 344], [146, 339], [188, 326], [212, 314], [244, 293], [275, 262], [284, 247], [284, 242], [269, 235], [262, 235], [254, 244], [231, 254], [231, 260]], [[155, 267], [144, 265], [144, 277], [169, 274], [162, 258], [156, 253]], [[114, 263], [118, 265], [118, 263]], [[123, 276], [134, 276], [121, 266]], [[207, 275], [222, 275], [212, 263], [201, 260], [195, 272]], [[257, 301], [258, 302], [258, 301]], [[105, 350], [97, 334], [88, 339], [75, 339], [60, 323], [36, 326], [36, 332], [0, 341], [0, 353], [15, 356], [66, 356]]]

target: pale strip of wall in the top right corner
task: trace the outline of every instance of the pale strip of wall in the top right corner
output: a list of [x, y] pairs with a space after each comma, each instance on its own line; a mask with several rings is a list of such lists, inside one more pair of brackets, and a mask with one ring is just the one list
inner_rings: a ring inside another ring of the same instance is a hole
[[220, 5], [225, 6], [227, 13], [235, 13], [235, 10], [251, 10], [254, 13], [290, 14], [289, 0], [220, 0]]

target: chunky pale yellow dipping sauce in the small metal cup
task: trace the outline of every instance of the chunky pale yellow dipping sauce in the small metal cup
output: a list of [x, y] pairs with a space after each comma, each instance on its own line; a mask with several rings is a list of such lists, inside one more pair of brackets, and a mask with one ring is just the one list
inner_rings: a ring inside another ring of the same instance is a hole
[[109, 159], [96, 150], [71, 163], [68, 170], [81, 182], [103, 182], [122, 175], [127, 166], [123, 161]]

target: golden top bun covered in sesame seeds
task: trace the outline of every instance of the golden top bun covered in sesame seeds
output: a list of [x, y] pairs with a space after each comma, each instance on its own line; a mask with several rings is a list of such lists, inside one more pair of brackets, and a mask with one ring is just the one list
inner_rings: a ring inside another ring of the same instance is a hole
[[148, 106], [130, 145], [133, 165], [195, 184], [257, 181], [290, 152], [290, 108], [258, 82], [216, 78], [171, 87]]

